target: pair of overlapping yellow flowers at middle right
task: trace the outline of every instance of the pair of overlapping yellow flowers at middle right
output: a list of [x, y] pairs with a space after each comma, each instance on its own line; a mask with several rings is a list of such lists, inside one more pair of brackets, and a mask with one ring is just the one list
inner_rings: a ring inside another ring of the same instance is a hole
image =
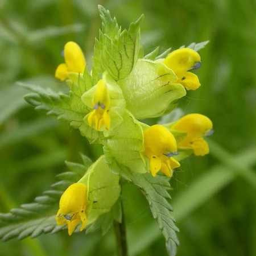
[[158, 171], [166, 176], [172, 176], [172, 170], [180, 167], [180, 163], [172, 157], [179, 154], [179, 147], [192, 148], [196, 156], [209, 154], [208, 143], [203, 137], [212, 135], [213, 129], [212, 121], [205, 115], [185, 115], [170, 129], [185, 133], [183, 141], [176, 144], [171, 131], [161, 125], [153, 125], [144, 131], [144, 155], [150, 160], [152, 176]]

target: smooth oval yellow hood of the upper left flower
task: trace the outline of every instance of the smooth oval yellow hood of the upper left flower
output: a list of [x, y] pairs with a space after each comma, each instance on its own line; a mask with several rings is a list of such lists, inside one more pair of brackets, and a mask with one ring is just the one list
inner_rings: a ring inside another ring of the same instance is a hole
[[84, 73], [86, 66], [84, 53], [75, 42], [68, 42], [64, 47], [65, 63], [68, 67], [68, 72]]

